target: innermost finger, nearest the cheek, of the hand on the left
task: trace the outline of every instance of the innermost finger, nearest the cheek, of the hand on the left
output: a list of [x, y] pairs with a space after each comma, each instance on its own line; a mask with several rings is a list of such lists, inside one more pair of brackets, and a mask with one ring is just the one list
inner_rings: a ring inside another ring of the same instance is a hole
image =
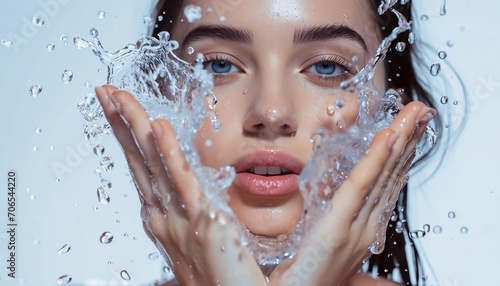
[[175, 186], [181, 201], [188, 209], [197, 207], [200, 186], [180, 148], [172, 125], [165, 119], [157, 119], [151, 122], [151, 128], [170, 181]]

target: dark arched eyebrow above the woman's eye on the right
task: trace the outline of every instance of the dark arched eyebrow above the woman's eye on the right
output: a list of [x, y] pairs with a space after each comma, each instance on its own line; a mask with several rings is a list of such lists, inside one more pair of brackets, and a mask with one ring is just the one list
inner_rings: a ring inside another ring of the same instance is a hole
[[346, 38], [359, 43], [365, 51], [368, 50], [366, 42], [361, 35], [346, 25], [312, 26], [295, 30], [293, 44], [299, 45], [310, 42], [325, 41], [337, 38]]

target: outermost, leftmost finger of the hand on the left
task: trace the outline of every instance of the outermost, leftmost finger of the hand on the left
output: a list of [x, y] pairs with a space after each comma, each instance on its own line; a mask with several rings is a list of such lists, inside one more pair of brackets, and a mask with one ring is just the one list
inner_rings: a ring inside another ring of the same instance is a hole
[[139, 191], [139, 196], [142, 196], [144, 201], [147, 203], [158, 207], [158, 199], [151, 189], [149, 171], [144, 165], [144, 160], [139, 147], [137, 146], [129, 127], [110, 101], [109, 95], [116, 90], [116, 87], [111, 85], [105, 85], [95, 89], [97, 98], [103, 108], [104, 115], [106, 116], [108, 123], [111, 125], [113, 134], [125, 154], [127, 164], [130, 168], [130, 173], [133, 176], [136, 188]]

